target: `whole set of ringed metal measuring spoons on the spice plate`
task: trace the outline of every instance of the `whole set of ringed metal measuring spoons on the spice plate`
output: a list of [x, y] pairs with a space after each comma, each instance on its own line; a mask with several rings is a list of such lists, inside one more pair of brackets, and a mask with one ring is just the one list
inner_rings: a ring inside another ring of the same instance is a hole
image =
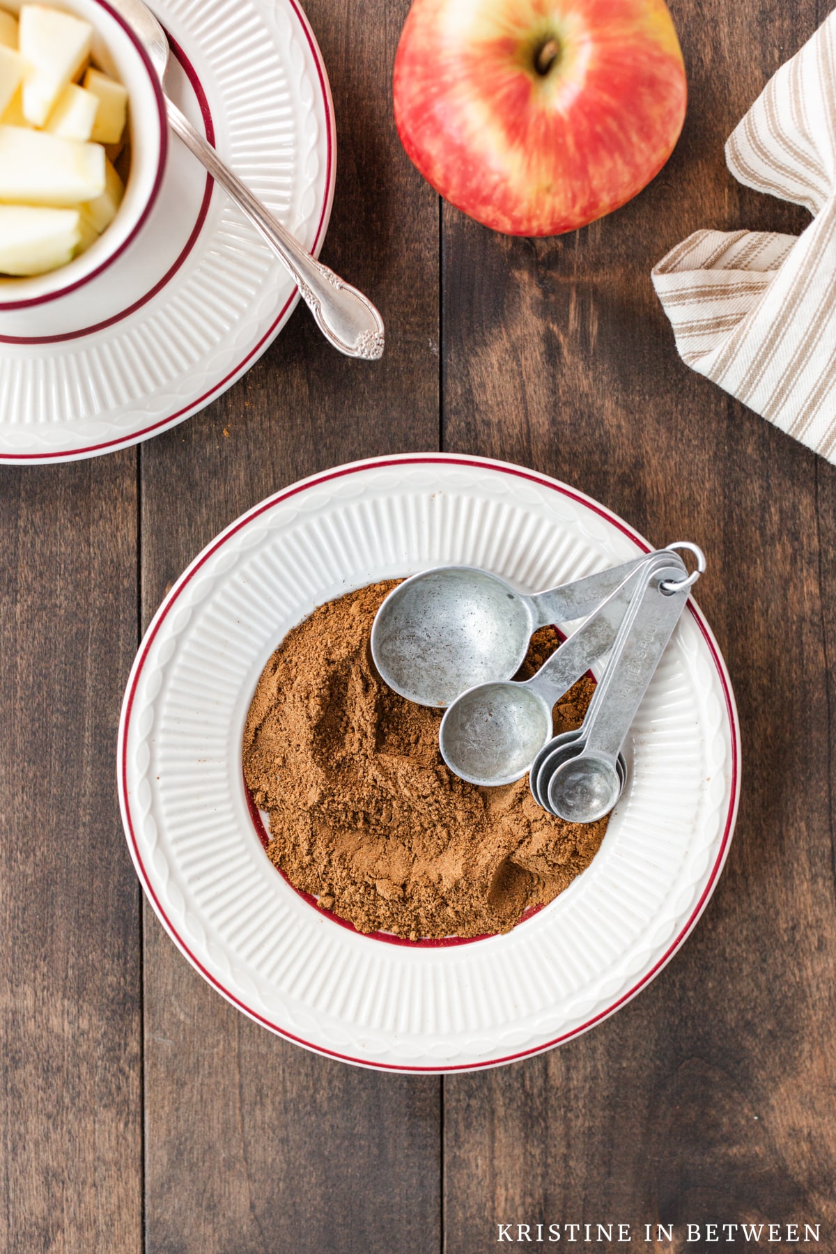
[[[692, 574], [676, 549], [696, 556]], [[439, 744], [456, 775], [495, 786], [530, 771], [539, 805], [572, 823], [593, 823], [622, 794], [622, 745], [704, 569], [702, 551], [677, 542], [535, 596], [475, 567], [425, 571], [377, 611], [372, 657], [401, 696], [447, 706]], [[536, 675], [510, 678], [538, 627], [582, 616]], [[553, 736], [554, 705], [605, 653], [583, 725]]]

